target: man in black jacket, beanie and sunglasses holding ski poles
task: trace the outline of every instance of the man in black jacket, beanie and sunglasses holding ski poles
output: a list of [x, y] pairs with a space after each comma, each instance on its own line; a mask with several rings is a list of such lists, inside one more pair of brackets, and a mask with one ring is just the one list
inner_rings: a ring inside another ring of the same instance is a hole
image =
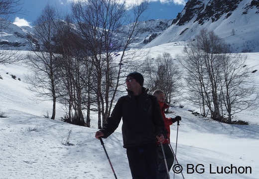
[[111, 117], [95, 137], [107, 138], [123, 119], [123, 147], [127, 149], [132, 179], [157, 179], [156, 141], [164, 141], [165, 127], [156, 97], [147, 94], [143, 82], [140, 73], [129, 73], [128, 95], [118, 100]]

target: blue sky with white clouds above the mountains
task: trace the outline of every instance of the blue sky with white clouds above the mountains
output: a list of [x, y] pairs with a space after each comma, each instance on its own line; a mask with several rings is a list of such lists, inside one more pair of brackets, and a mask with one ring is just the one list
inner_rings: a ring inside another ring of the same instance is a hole
[[[73, 0], [20, 0], [23, 14], [16, 14], [11, 21], [17, 25], [31, 25], [49, 2], [57, 5], [63, 11], [69, 11]], [[132, 3], [135, 0], [126, 0]], [[148, 19], [173, 19], [181, 12], [187, 0], [151, 0], [149, 9], [145, 12]]]

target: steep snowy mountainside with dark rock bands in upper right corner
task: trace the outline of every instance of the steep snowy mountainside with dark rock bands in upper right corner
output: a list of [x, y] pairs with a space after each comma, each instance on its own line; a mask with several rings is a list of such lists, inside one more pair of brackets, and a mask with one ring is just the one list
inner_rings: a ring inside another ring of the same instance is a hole
[[259, 0], [189, 0], [172, 25], [145, 47], [188, 41], [208, 28], [235, 52], [259, 51]]

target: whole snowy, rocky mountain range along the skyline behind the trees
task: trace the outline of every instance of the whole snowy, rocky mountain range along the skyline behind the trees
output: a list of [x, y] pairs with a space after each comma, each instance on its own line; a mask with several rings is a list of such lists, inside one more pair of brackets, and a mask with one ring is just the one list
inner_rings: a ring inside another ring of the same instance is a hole
[[[130, 48], [189, 41], [202, 28], [213, 30], [233, 52], [259, 52], [259, 0], [189, 0], [176, 18], [139, 22]], [[31, 50], [28, 37], [34, 27], [13, 23], [0, 31], [0, 49]]]

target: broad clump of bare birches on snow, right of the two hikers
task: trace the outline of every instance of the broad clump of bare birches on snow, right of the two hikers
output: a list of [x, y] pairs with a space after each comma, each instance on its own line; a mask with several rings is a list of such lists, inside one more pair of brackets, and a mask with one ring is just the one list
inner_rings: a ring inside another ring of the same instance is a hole
[[187, 71], [186, 87], [191, 94], [188, 99], [200, 105], [203, 116], [207, 116], [208, 110], [214, 120], [222, 121], [227, 111], [229, 123], [232, 109], [248, 109], [255, 106], [258, 98], [250, 98], [253, 94], [258, 96], [254, 87], [244, 88], [249, 81], [249, 70], [241, 68], [246, 57], [230, 52], [229, 45], [213, 31], [202, 29], [179, 57]]

